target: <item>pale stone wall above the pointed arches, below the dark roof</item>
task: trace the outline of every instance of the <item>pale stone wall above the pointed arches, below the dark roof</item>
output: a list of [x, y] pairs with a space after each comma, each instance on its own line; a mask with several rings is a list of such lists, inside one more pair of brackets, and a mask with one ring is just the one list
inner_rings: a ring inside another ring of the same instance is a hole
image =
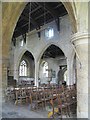
[[[53, 28], [54, 29], [54, 36], [51, 39], [47, 39], [45, 36], [45, 29], [47, 28]], [[71, 29], [71, 24], [69, 20], [69, 16], [65, 15], [62, 18], [60, 18], [60, 32], [57, 30], [57, 26], [55, 24], [55, 21], [48, 23], [42, 27], [41, 31], [41, 37], [38, 38], [37, 32], [34, 30], [27, 34], [26, 37], [26, 44], [21, 46], [21, 41], [23, 40], [22, 36], [19, 36], [16, 38], [16, 46], [11, 47], [10, 49], [10, 68], [13, 70], [12, 75], [14, 76], [14, 79], [18, 80], [19, 74], [18, 74], [18, 68], [20, 61], [22, 59], [23, 54], [26, 51], [31, 52], [33, 55], [36, 63], [40, 63], [40, 59], [45, 52], [45, 50], [50, 46], [50, 45], [56, 45], [58, 46], [64, 53], [66, 59], [70, 59], [72, 57], [73, 53], [73, 47], [70, 43], [70, 38], [72, 35], [72, 29]], [[11, 44], [12, 45], [12, 44]], [[70, 59], [72, 61], [72, 59]], [[49, 64], [52, 63], [52, 60], [49, 60]], [[53, 64], [50, 64], [51, 68], [55, 68], [56, 74], [58, 72], [58, 66], [59, 65], [66, 65], [67, 62], [64, 60], [60, 60], [57, 58], [57, 60], [54, 60], [54, 66]], [[14, 65], [14, 66], [13, 66]], [[67, 64], [70, 66], [70, 62]], [[39, 70], [38, 70], [39, 71]], [[68, 73], [68, 81], [71, 81], [71, 71]], [[74, 74], [74, 73], [73, 73]], [[53, 78], [53, 82], [55, 83], [57, 79]], [[73, 80], [73, 78], [72, 78]], [[69, 83], [69, 82], [68, 82]]]

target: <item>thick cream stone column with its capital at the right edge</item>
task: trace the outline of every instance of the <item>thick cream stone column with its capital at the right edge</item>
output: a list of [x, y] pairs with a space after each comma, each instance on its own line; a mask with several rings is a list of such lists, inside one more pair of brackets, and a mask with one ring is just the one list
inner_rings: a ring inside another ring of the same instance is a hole
[[[88, 33], [76, 33], [72, 36], [78, 53], [77, 67], [77, 118], [88, 118]], [[80, 65], [81, 62], [81, 65]]]

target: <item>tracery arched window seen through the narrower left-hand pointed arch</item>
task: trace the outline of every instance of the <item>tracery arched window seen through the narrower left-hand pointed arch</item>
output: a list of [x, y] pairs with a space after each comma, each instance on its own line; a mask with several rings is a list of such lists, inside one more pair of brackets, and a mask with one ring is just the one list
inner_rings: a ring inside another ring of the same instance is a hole
[[27, 76], [27, 63], [22, 60], [19, 67], [19, 76]]

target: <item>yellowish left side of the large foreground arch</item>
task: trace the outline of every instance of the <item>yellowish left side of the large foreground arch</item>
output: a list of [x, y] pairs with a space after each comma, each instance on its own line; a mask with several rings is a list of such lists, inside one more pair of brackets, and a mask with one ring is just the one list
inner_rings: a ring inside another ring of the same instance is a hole
[[[9, 56], [11, 38], [16, 23], [25, 7], [23, 2], [4, 2], [2, 3], [2, 55], [4, 58]], [[17, 12], [15, 12], [17, 11]], [[13, 14], [14, 13], [14, 14]]]

